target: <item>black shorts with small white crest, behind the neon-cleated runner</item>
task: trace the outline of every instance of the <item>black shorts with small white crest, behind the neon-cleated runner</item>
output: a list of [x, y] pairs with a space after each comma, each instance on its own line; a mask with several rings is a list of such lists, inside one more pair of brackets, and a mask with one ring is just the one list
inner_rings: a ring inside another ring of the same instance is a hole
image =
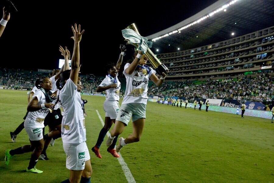
[[58, 108], [57, 110], [53, 110], [52, 113], [48, 113], [45, 120], [44, 125], [49, 126], [50, 128], [54, 128], [62, 123], [63, 116], [61, 114], [61, 110]]

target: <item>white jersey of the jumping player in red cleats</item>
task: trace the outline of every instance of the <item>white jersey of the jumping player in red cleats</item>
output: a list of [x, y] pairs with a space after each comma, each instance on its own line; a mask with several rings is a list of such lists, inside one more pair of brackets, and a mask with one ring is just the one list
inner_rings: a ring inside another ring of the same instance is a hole
[[117, 88], [109, 88], [109, 89], [106, 90], [107, 91], [106, 100], [109, 100], [109, 101], [117, 100], [117, 101], [119, 101], [119, 99], [120, 99], [119, 94], [120, 94], [120, 89], [121, 89], [121, 83], [118, 80], [117, 76], [115, 78], [113, 78], [113, 77], [107, 75], [106, 78], [99, 85], [99, 86], [107, 86], [109, 84], [113, 84], [116, 80]]

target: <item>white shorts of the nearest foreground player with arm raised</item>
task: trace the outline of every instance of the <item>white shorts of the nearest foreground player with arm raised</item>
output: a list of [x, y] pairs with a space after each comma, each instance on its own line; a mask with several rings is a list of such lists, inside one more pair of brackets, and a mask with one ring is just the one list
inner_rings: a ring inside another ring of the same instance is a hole
[[90, 160], [89, 149], [86, 142], [80, 144], [70, 144], [63, 142], [66, 153], [66, 168], [68, 170], [84, 170], [85, 162]]

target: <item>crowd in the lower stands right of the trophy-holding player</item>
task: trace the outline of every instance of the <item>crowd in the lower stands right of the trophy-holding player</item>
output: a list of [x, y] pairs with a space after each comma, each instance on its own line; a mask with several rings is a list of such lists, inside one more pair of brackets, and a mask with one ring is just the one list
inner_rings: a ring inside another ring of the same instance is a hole
[[274, 77], [260, 74], [223, 81], [165, 82], [160, 87], [150, 86], [148, 95], [177, 96], [188, 99], [236, 99], [239, 101], [271, 102], [274, 98]]

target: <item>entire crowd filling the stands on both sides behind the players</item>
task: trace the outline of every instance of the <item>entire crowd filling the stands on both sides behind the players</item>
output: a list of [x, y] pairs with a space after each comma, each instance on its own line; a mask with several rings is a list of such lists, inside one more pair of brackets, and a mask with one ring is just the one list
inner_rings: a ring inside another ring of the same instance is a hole
[[[48, 76], [48, 73], [0, 68], [1, 83], [13, 84], [13, 87], [18, 88], [21, 86], [31, 89], [35, 80], [42, 76]], [[93, 74], [81, 75], [80, 77], [83, 93], [96, 93], [96, 88], [104, 79], [104, 77], [97, 77]], [[121, 90], [120, 96], [122, 97], [124, 93], [125, 91]], [[188, 99], [209, 98], [270, 102], [274, 98], [274, 77], [263, 73], [253, 78], [245, 76], [219, 81], [212, 78], [204, 81], [166, 81], [160, 87], [156, 85], [150, 86], [148, 95], [177, 96]]]

